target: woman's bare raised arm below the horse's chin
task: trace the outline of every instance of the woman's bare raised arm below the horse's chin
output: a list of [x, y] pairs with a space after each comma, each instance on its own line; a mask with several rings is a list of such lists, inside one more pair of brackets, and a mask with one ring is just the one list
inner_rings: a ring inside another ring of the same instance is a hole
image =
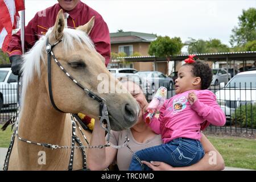
[[[95, 121], [90, 146], [104, 145], [105, 130], [100, 126], [100, 121]], [[89, 148], [87, 166], [90, 170], [103, 170], [107, 168], [115, 159], [117, 149], [113, 147], [106, 148]]]

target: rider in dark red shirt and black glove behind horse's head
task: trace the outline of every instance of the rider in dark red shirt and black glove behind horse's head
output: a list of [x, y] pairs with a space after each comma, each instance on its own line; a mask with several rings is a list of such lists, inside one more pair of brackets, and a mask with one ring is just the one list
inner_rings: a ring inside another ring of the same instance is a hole
[[[90, 8], [80, 0], [57, 0], [59, 3], [48, 7], [45, 10], [39, 11], [34, 18], [28, 22], [25, 28], [25, 52], [32, 48], [40, 36], [45, 35], [48, 28], [55, 23], [57, 13], [63, 9], [64, 13], [68, 13], [67, 25], [69, 28], [76, 28], [87, 23], [92, 16], [95, 16], [94, 26], [90, 31], [90, 38], [92, 39], [96, 51], [105, 57], [105, 65], [107, 66], [110, 60], [110, 36], [109, 28], [102, 16], [97, 11]], [[9, 59], [11, 62], [11, 71], [14, 75], [21, 75], [20, 65], [22, 63], [22, 47], [20, 42], [20, 31], [14, 34], [7, 48]], [[79, 115], [83, 122], [90, 129], [93, 128], [94, 119], [85, 117], [84, 114]]]

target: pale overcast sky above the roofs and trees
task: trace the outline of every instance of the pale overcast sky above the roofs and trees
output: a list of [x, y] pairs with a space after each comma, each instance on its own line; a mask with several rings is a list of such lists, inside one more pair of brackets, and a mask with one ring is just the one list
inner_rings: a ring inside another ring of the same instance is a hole
[[[256, 8], [256, 0], [82, 0], [98, 11], [110, 32], [144, 32], [183, 42], [188, 38], [220, 39], [229, 44], [232, 28], [238, 25], [242, 10]], [[25, 0], [26, 24], [36, 12], [57, 3], [57, 0]], [[185, 51], [185, 50], [183, 50]]]

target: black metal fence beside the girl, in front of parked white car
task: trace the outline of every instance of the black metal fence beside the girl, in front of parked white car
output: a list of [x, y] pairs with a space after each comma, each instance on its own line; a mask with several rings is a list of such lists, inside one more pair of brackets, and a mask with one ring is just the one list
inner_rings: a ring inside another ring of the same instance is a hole
[[[245, 86], [244, 86], [245, 85]], [[253, 84], [254, 85], [254, 84]], [[255, 82], [256, 85], [256, 82]], [[155, 91], [168, 84], [158, 84]], [[234, 135], [255, 135], [256, 134], [256, 88], [252, 83], [240, 83], [240, 85], [221, 88], [221, 84], [211, 85], [208, 88], [217, 96], [218, 105], [226, 115], [225, 126], [218, 127], [210, 125], [206, 131], [209, 133], [226, 133]], [[146, 98], [150, 102], [154, 96], [154, 90], [146, 87]], [[175, 89], [172, 88], [167, 92], [167, 98], [175, 96]]]

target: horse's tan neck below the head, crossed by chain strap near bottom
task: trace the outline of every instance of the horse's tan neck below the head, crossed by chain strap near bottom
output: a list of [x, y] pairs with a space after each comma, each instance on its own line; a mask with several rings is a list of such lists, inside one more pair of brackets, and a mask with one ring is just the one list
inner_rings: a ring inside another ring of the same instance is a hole
[[[19, 137], [36, 143], [69, 146], [72, 135], [70, 116], [53, 108], [47, 92], [44, 82], [37, 78], [28, 86], [20, 113]], [[17, 144], [19, 169], [67, 169], [69, 150], [51, 150], [20, 140]], [[38, 165], [39, 151], [46, 151], [47, 165]]]

